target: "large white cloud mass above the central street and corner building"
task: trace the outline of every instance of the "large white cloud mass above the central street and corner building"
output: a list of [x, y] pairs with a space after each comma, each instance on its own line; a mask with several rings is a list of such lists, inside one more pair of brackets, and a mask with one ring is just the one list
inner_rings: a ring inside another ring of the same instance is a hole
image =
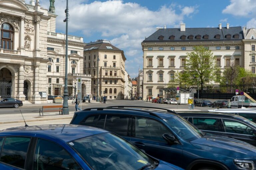
[[[29, 1], [29, 0], [26, 0]], [[29, 3], [29, 2], [28, 2]], [[49, 0], [41, 0], [41, 6], [48, 9]], [[65, 32], [64, 10], [66, 0], [55, 1], [56, 27], [59, 32]], [[136, 72], [134, 65], [129, 64], [138, 56], [142, 56], [141, 42], [156, 31], [157, 26], [167, 28], [179, 27], [184, 17], [190, 17], [197, 12], [197, 6], [161, 6], [157, 10], [149, 10], [138, 3], [123, 2], [121, 0], [94, 1], [86, 4], [83, 0], [69, 1], [69, 34], [80, 32], [84, 41], [90, 42], [88, 36], [101, 35], [118, 48], [124, 50], [127, 64], [126, 70]], [[137, 62], [137, 61], [134, 61]], [[142, 58], [138, 61], [142, 66]]]

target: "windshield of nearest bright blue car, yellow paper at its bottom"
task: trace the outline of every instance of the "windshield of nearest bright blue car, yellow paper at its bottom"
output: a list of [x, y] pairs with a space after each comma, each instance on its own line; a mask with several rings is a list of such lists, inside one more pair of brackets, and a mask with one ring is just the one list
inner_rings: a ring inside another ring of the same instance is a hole
[[69, 142], [94, 170], [137, 170], [158, 163], [112, 133], [101, 133]]

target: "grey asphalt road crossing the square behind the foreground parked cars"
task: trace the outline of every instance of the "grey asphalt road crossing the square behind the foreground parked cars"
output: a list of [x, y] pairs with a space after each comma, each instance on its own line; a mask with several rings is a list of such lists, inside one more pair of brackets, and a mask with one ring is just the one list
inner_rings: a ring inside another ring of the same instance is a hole
[[[50, 104], [49, 104], [50, 105]], [[188, 109], [188, 105], [167, 105], [167, 104], [157, 104], [151, 103], [141, 100], [108, 100], [106, 104], [102, 103], [82, 103], [82, 109], [91, 108], [91, 107], [107, 107], [107, 106], [144, 106], [144, 107], [159, 107], [159, 108], [166, 108], [166, 109]], [[80, 105], [79, 105], [80, 107]], [[21, 106], [17, 109], [15, 108], [0, 108], [0, 115], [2, 114], [16, 114], [20, 113], [20, 110], [23, 114], [26, 113], [39, 113], [39, 109], [42, 108], [40, 105], [34, 105], [27, 107], [26, 105]], [[196, 110], [203, 110], [207, 111], [211, 109], [210, 107], [196, 107]], [[75, 105], [69, 105], [69, 111], [75, 111]]]

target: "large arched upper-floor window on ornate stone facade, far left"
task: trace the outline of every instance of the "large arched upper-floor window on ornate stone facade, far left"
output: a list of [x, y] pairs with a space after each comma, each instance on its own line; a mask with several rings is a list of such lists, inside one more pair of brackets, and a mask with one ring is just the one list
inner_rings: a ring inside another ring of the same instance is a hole
[[10, 24], [4, 23], [1, 27], [1, 48], [13, 49], [13, 28]]

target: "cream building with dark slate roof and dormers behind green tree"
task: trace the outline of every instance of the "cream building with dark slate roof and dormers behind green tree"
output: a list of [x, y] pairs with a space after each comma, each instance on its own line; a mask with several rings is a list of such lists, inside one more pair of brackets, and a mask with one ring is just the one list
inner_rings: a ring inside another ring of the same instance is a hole
[[[241, 27], [217, 28], [158, 28], [142, 43], [143, 49], [143, 98], [164, 97], [161, 88], [174, 81], [176, 72], [183, 72], [187, 52], [196, 45], [210, 49], [221, 71], [232, 63], [244, 67], [244, 42]], [[219, 73], [221, 74], [221, 72]], [[214, 83], [214, 82], [212, 82]]]

